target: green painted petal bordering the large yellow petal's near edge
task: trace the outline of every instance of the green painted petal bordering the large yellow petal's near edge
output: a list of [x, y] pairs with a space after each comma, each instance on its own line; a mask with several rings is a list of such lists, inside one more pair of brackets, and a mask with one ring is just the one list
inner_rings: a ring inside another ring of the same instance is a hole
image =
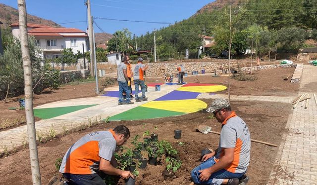
[[120, 120], [141, 120], [141, 119], [150, 119], [150, 118], [159, 118], [159, 117], [169, 117], [175, 115], [182, 115], [186, 112], [177, 112], [177, 111], [165, 111], [161, 109], [153, 109], [146, 107], [136, 107], [116, 115], [113, 115], [109, 118], [109, 121], [120, 121]]

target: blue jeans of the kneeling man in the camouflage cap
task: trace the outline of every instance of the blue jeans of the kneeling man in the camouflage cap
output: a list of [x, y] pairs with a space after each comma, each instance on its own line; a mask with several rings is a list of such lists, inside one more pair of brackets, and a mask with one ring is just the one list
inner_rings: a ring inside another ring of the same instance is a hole
[[222, 170], [219, 170], [219, 171], [211, 174], [208, 181], [200, 182], [199, 181], [200, 172], [198, 172], [198, 171], [209, 168], [212, 165], [214, 165], [215, 163], [216, 162], [213, 160], [213, 157], [211, 157], [207, 161], [202, 162], [199, 166], [194, 168], [191, 172], [193, 182], [196, 185], [221, 185], [221, 183], [223, 182], [224, 179], [240, 178], [245, 174], [245, 172], [244, 173], [231, 173], [231, 172], [228, 172], [228, 171], [222, 169]]

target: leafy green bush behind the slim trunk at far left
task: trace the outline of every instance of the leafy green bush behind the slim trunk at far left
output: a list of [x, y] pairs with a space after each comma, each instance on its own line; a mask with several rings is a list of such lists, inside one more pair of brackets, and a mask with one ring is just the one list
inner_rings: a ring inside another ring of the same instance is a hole
[[[34, 93], [40, 93], [47, 87], [56, 88], [59, 72], [47, 67], [42, 67], [42, 59], [38, 57], [41, 53], [35, 46], [33, 37], [29, 37], [29, 51], [32, 64], [32, 84]], [[9, 90], [8, 90], [9, 87]], [[8, 90], [8, 97], [19, 96], [24, 93], [24, 72], [19, 40], [7, 45], [3, 55], [0, 56], [0, 100], [5, 98]]]

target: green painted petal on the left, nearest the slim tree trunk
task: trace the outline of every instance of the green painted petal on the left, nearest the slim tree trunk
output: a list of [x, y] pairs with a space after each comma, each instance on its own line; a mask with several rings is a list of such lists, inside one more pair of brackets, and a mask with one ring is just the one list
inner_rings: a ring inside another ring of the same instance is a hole
[[41, 119], [50, 119], [59, 115], [63, 115], [66, 113], [79, 111], [82, 109], [86, 109], [89, 107], [96, 106], [98, 104], [93, 105], [83, 105], [83, 106], [69, 106], [69, 107], [55, 107], [55, 108], [44, 108], [44, 109], [34, 109], [34, 116], [39, 117]]

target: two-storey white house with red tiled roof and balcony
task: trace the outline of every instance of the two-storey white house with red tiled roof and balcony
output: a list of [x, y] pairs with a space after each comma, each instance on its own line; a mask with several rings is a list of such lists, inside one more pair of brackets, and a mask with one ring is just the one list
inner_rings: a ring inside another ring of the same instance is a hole
[[[12, 35], [19, 38], [18, 23], [11, 24]], [[27, 24], [28, 35], [35, 37], [36, 45], [42, 49], [42, 57], [62, 54], [64, 48], [72, 48], [83, 53], [89, 50], [89, 38], [86, 32], [76, 28], [53, 28], [46, 25]], [[84, 46], [84, 47], [83, 47]]]

